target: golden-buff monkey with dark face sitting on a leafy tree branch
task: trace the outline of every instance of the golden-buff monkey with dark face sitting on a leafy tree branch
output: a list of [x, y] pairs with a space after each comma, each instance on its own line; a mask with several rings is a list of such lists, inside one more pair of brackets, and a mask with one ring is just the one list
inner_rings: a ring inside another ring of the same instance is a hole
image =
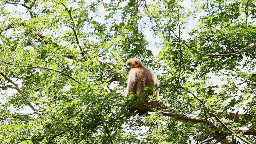
[[125, 69], [129, 73], [126, 95], [143, 95], [142, 100], [144, 100], [144, 102], [136, 103], [138, 110], [142, 111], [139, 115], [142, 115], [146, 112], [152, 112], [152, 108], [155, 108], [156, 105], [160, 103], [160, 100], [158, 100], [159, 90], [155, 90], [154, 92], [156, 95], [156, 100], [151, 100], [149, 102], [147, 98], [153, 93], [146, 92], [144, 87], [158, 84], [158, 79], [156, 78], [153, 70], [146, 68], [138, 58], [130, 58], [127, 60]]

